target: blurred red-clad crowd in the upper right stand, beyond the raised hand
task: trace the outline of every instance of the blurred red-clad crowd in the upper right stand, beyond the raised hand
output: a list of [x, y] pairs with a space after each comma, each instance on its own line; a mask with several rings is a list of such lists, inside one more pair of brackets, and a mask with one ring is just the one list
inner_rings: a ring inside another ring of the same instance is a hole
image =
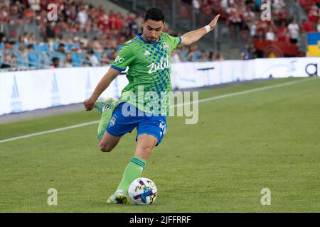
[[[299, 33], [320, 32], [320, 1], [299, 0], [299, 4], [306, 10], [308, 18], [297, 23], [289, 18], [284, 0], [185, 0], [198, 11], [207, 15], [220, 13], [220, 18], [228, 21], [231, 35], [241, 33], [242, 38], [250, 34], [252, 38], [262, 40], [282, 41], [296, 44]], [[263, 21], [261, 4], [270, 4], [271, 21]]]

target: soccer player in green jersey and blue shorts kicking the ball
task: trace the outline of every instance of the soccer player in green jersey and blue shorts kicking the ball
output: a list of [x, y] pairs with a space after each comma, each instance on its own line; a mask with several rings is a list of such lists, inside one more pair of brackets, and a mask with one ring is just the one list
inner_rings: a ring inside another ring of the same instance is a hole
[[[160, 9], [148, 9], [142, 19], [142, 33], [138, 33], [123, 45], [110, 70], [102, 77], [90, 98], [83, 102], [87, 111], [95, 108], [102, 114], [97, 140], [103, 152], [110, 152], [119, 143], [122, 135], [131, 133], [137, 127], [137, 148], [134, 156], [124, 170], [117, 191], [107, 199], [107, 203], [127, 202], [129, 184], [142, 175], [152, 149], [164, 138], [166, 115], [169, 114], [167, 100], [170, 99], [169, 93], [172, 90], [171, 52], [182, 45], [191, 45], [213, 31], [219, 16], [215, 16], [213, 21], [203, 28], [190, 31], [181, 37], [172, 37], [162, 32], [164, 13]], [[97, 100], [113, 79], [127, 67], [129, 84], [122, 90], [118, 104], [114, 99]], [[150, 106], [155, 107], [149, 108]]]

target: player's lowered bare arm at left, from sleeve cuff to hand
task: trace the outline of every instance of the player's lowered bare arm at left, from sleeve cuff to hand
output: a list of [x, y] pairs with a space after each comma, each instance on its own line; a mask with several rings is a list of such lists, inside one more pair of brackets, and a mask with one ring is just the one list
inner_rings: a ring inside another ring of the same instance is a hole
[[85, 106], [86, 111], [90, 111], [94, 108], [95, 106], [95, 101], [97, 101], [97, 98], [99, 98], [100, 94], [109, 87], [111, 84], [112, 80], [114, 80], [117, 75], [120, 74], [121, 71], [119, 70], [114, 70], [113, 68], [110, 67], [108, 72], [105, 74], [105, 76], [100, 79], [100, 82], [97, 84], [97, 87], [95, 87], [95, 91], [92, 93], [89, 99], [85, 99], [83, 101], [83, 105]]

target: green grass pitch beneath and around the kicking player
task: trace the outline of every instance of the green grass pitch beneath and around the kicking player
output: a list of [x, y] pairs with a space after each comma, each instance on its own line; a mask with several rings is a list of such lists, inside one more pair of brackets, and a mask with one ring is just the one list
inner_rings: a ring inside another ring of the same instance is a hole
[[[203, 89], [199, 99], [281, 84], [272, 79]], [[100, 118], [97, 111], [0, 125], [0, 140]], [[199, 121], [169, 117], [143, 177], [151, 206], [105, 204], [135, 149], [136, 131], [111, 153], [97, 149], [97, 124], [0, 143], [0, 212], [319, 212], [320, 79], [201, 102]], [[47, 191], [58, 190], [48, 206]], [[261, 190], [271, 191], [262, 206]]]

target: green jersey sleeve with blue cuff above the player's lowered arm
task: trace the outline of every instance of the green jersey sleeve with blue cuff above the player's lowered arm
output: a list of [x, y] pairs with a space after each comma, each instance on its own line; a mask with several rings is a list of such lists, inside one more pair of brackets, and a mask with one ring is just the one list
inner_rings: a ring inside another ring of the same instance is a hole
[[111, 67], [114, 70], [124, 71], [126, 70], [127, 66], [133, 62], [135, 57], [136, 55], [134, 55], [134, 52], [131, 50], [129, 45], [124, 45], [121, 48], [119, 55], [112, 63]]

